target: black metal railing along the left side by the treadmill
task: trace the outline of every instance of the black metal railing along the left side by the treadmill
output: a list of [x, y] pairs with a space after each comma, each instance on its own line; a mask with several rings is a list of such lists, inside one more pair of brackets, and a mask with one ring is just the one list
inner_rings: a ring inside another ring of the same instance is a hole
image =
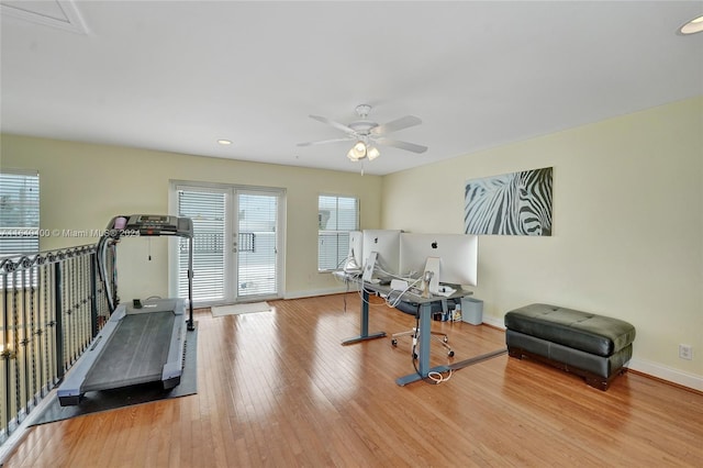
[[[114, 248], [107, 263], [115, 291]], [[105, 291], [94, 244], [0, 257], [0, 444], [102, 328]]]

